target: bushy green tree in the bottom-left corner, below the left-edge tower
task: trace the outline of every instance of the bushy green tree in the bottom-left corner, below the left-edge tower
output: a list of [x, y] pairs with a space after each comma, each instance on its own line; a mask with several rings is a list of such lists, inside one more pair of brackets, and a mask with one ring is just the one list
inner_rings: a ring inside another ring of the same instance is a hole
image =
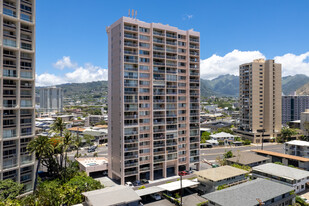
[[14, 182], [11, 179], [0, 181], [0, 202], [4, 202], [8, 199], [14, 200], [21, 194], [23, 185]]

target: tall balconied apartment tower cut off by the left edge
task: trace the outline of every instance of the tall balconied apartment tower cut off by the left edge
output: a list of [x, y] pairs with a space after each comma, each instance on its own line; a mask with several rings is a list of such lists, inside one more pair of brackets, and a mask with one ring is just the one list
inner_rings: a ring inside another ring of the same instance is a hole
[[0, 180], [33, 188], [35, 0], [0, 3]]

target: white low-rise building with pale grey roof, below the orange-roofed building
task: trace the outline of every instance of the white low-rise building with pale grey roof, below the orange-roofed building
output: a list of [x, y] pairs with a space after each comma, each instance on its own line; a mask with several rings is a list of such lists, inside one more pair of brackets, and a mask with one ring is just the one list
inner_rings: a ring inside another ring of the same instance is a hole
[[267, 163], [252, 168], [253, 177], [267, 178], [295, 189], [296, 193], [306, 189], [309, 172], [284, 165]]

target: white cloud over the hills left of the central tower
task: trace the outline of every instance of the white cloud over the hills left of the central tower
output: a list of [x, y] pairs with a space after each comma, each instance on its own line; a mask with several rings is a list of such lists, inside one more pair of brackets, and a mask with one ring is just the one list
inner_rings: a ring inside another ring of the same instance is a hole
[[[62, 60], [64, 59], [69, 59], [68, 62], [71, 62], [70, 57], [63, 57]], [[59, 61], [57, 61], [57, 63], [58, 62]], [[36, 75], [36, 86], [52, 86], [64, 83], [84, 83], [92, 81], [101, 81], [101, 80], [107, 80], [108, 77], [107, 69], [104, 69], [99, 66], [94, 66], [90, 63], [87, 63], [84, 66], [78, 66], [76, 64], [74, 67], [65, 66], [63, 68], [73, 68], [74, 70], [73, 71], [70, 70], [70, 72], [58, 76], [49, 73]]]

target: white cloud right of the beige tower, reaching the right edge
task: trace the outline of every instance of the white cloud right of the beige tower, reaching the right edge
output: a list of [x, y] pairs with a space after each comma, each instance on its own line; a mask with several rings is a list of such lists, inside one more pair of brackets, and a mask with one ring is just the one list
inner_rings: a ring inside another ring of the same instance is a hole
[[309, 76], [309, 52], [304, 54], [285, 54], [276, 56], [275, 61], [282, 64], [282, 76], [305, 74]]

